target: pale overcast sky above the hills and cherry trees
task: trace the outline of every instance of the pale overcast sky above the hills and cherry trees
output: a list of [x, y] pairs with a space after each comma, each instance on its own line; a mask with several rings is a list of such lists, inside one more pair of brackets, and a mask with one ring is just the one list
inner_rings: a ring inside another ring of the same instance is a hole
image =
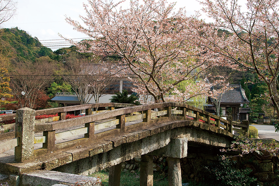
[[[69, 39], [78, 38], [76, 41], [87, 38], [87, 35], [73, 30], [73, 27], [65, 21], [65, 15], [80, 21], [79, 15], [85, 15], [83, 2], [86, 3], [87, 0], [18, 0], [16, 15], [1, 26], [3, 28], [17, 26], [32, 37], [37, 37], [43, 45], [53, 51], [69, 47], [68, 42], [61, 40], [58, 33]], [[196, 0], [179, 0], [176, 8], [180, 7], [186, 8], [188, 16], [201, 9]]]

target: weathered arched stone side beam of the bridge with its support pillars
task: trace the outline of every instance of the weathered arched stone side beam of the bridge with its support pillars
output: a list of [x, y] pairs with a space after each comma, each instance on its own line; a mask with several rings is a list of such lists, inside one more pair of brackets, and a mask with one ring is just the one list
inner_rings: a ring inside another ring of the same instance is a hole
[[[141, 182], [145, 183], [142, 185], [153, 185], [153, 182], [150, 183], [150, 176], [153, 175], [153, 158], [151, 156], [166, 156], [170, 157], [169, 161], [174, 162], [169, 162], [170, 165], [173, 164], [169, 166], [169, 180], [173, 180], [172, 185], [177, 185], [175, 184], [177, 181], [180, 180], [181, 183], [179, 159], [187, 156], [188, 145], [200, 144], [225, 148], [231, 144], [232, 137], [202, 129], [205, 128], [203, 125], [194, 121], [171, 121], [150, 129], [135, 131], [129, 135], [107, 138], [105, 140], [114, 145], [118, 143], [117, 146], [107, 152], [72, 161], [53, 170], [90, 175], [111, 167], [110, 177], [114, 178], [111, 182], [116, 183], [116, 180], [120, 181], [120, 177], [117, 175], [120, 175], [118, 171], [121, 171], [121, 163], [142, 156]], [[170, 126], [173, 128], [168, 129]], [[167, 130], [162, 131], [164, 129]], [[158, 133], [148, 136], [152, 131], [153, 133], [158, 131]], [[131, 142], [120, 144], [121, 138], [129, 138]]]

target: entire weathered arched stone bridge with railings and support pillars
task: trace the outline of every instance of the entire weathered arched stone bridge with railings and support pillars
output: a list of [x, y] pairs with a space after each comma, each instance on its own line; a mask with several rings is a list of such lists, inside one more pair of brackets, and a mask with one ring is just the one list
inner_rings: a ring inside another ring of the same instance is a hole
[[[245, 121], [234, 123], [231, 117], [229, 121], [224, 120], [184, 103], [126, 106], [130, 105], [106, 103], [41, 111], [19, 109], [16, 124], [5, 128], [15, 127], [15, 132], [0, 134], [0, 139], [1, 135], [2, 138], [15, 135], [0, 142], [0, 172], [23, 174], [55, 170], [88, 175], [112, 167], [110, 183], [117, 183], [121, 162], [142, 156], [141, 183], [148, 185], [149, 177], [143, 175], [151, 175], [150, 169], [153, 170], [149, 165], [150, 156], [163, 155], [174, 162], [169, 162], [174, 165], [169, 167], [169, 179], [179, 180], [179, 176], [177, 179], [171, 176], [177, 174], [172, 170], [177, 170], [174, 169], [179, 162], [177, 158], [187, 156], [188, 145], [228, 147], [232, 131], [247, 132], [248, 129]], [[96, 107], [109, 110], [94, 111]], [[65, 119], [65, 112], [78, 109], [86, 109], [86, 116]], [[155, 109], [160, 111], [153, 111]], [[35, 120], [35, 115], [50, 113], [58, 113], [58, 117]], [[12, 117], [15, 116], [3, 116], [0, 120]], [[34, 150], [34, 146], [38, 149]], [[6, 151], [13, 147], [14, 153]]]

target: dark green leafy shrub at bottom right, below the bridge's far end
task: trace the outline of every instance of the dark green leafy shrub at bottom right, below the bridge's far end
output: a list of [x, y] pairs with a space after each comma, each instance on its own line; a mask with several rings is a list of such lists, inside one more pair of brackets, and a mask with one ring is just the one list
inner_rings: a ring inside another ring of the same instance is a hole
[[211, 163], [206, 166], [208, 172], [207, 183], [214, 186], [254, 186], [256, 178], [250, 177], [251, 169], [235, 168], [236, 161], [220, 158], [218, 163]]

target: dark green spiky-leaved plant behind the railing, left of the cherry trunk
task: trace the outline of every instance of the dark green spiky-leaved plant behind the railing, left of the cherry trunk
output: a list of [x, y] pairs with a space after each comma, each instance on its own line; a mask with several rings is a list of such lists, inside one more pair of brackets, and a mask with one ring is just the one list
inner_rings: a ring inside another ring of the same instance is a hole
[[128, 96], [128, 91], [123, 90], [122, 93], [116, 92], [115, 95], [111, 96], [109, 100], [111, 103], [128, 103], [134, 105], [141, 105], [138, 99], [139, 98], [133, 94]]

